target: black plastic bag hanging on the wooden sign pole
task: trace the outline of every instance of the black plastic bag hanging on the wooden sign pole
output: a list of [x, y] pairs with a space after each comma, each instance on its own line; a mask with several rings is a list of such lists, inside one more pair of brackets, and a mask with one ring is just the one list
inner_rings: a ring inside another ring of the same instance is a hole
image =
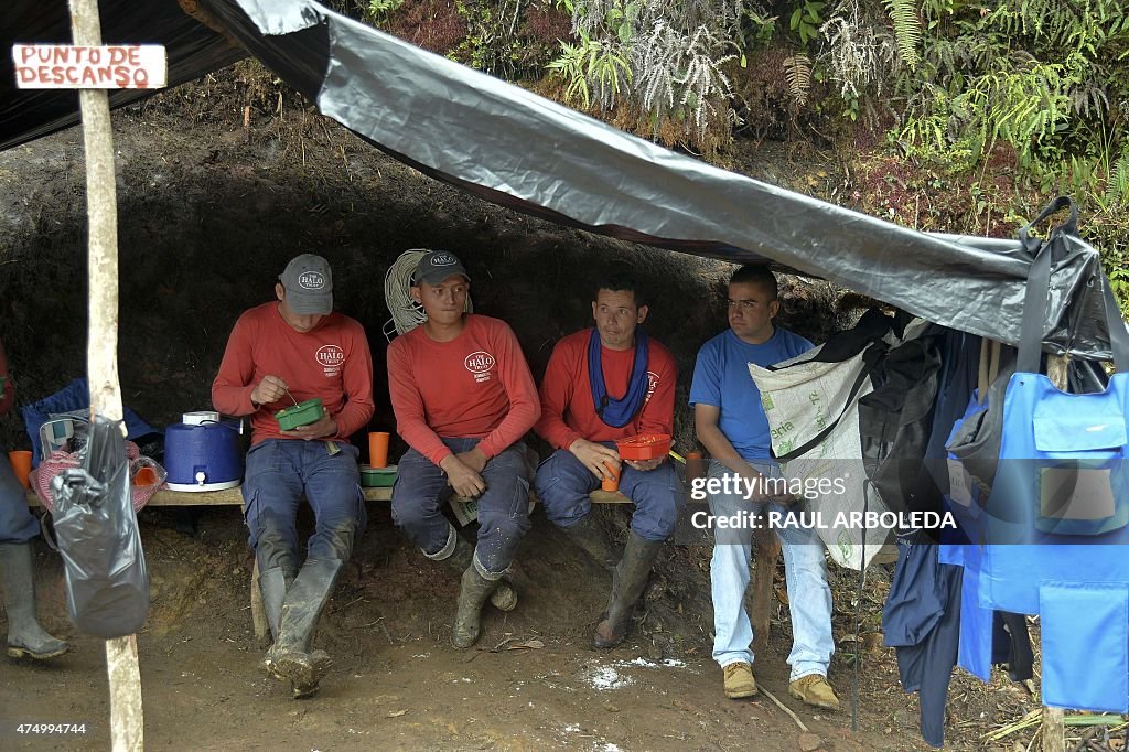
[[121, 422], [96, 418], [82, 467], [63, 471], [51, 484], [71, 621], [107, 639], [135, 633], [149, 611], [149, 572]]

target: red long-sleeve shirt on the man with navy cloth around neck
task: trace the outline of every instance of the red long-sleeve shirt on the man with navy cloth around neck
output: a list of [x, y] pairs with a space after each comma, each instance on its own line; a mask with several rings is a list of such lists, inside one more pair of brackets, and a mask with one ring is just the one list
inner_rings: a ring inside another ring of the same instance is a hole
[[[596, 414], [588, 383], [588, 338], [592, 329], [569, 334], [553, 348], [541, 382], [541, 420], [534, 430], [558, 449], [572, 441], [614, 441], [637, 434], [674, 434], [674, 386], [679, 378], [674, 356], [649, 340], [647, 399], [642, 409], [622, 428], [612, 428]], [[604, 386], [619, 399], [628, 391], [634, 348], [611, 350], [599, 346]]]

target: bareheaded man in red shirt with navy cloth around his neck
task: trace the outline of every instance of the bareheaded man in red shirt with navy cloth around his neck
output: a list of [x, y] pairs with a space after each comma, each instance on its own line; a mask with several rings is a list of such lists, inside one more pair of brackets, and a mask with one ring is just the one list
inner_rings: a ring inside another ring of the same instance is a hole
[[[621, 466], [616, 439], [674, 432], [674, 356], [639, 327], [648, 307], [627, 276], [604, 280], [592, 304], [595, 327], [557, 343], [541, 383], [535, 430], [557, 452], [534, 480], [545, 515], [601, 566], [613, 571], [612, 596], [593, 644], [618, 645], [647, 585], [659, 546], [673, 532], [682, 483], [657, 457]], [[634, 502], [623, 557], [615, 562], [603, 528], [592, 518], [588, 493], [619, 469], [620, 491]]]

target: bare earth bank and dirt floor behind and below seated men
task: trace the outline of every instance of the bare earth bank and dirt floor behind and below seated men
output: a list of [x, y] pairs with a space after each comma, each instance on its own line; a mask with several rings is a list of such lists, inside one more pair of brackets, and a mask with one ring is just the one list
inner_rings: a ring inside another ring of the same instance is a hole
[[[724, 326], [724, 264], [470, 199], [286, 97], [274, 110], [273, 95], [209, 77], [115, 114], [128, 405], [156, 425], [209, 406], [236, 316], [270, 299], [290, 256], [312, 251], [333, 263], [338, 307], [369, 332], [371, 428], [387, 429], [384, 271], [412, 247], [463, 256], [475, 308], [511, 323], [539, 377], [552, 343], [588, 321], [596, 274], [630, 268], [651, 291], [648, 329], [674, 351], [685, 403], [694, 353]], [[247, 132], [244, 105], [253, 107]], [[842, 189], [835, 166], [817, 154], [767, 142], [738, 161], [730, 166], [788, 187]], [[0, 154], [0, 339], [19, 403], [84, 371], [85, 226], [77, 131]], [[820, 341], [849, 313], [834, 300], [826, 285], [790, 279], [782, 322]], [[676, 434], [677, 448], [693, 448], [685, 410]], [[0, 439], [26, 446], [18, 414], [0, 417]], [[402, 449], [393, 446], [392, 456]], [[601, 515], [622, 540], [628, 509]], [[849, 710], [812, 712], [788, 698], [790, 632], [787, 607], [777, 604], [758, 680], [814, 740], [800, 738], [797, 724], [764, 697], [721, 696], [709, 657], [708, 546], [669, 545], [630, 638], [597, 653], [588, 638], [609, 578], [536, 511], [515, 575], [522, 604], [511, 614], [490, 613], [478, 648], [458, 652], [448, 641], [455, 577], [411, 550], [386, 506], [374, 502], [369, 532], [317, 638], [334, 671], [316, 698], [295, 701], [259, 667], [263, 646], [251, 631], [251, 557], [238, 510], [208, 509], [193, 519], [155, 509], [141, 519], [152, 578], [152, 609], [138, 639], [149, 749], [924, 749], [916, 700], [901, 691], [893, 652], [877, 637], [889, 580], [882, 568], [863, 589], [861, 642], [854, 641], [857, 575], [832, 570], [831, 682], [849, 706], [859, 662], [858, 731]], [[58, 556], [38, 544], [37, 562], [43, 619], [76, 649], [51, 666], [0, 662], [0, 749], [106, 749], [102, 644], [70, 628]], [[949, 698], [952, 749], [979, 749], [986, 731], [1038, 707], [1003, 677], [986, 688], [959, 676]], [[16, 723], [36, 720], [85, 723], [87, 733], [15, 733]]]

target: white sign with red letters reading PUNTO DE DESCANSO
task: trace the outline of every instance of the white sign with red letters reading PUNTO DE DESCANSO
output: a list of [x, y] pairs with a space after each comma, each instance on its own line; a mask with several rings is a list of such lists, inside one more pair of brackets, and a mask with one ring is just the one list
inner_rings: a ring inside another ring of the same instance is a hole
[[16, 44], [11, 59], [20, 89], [159, 89], [168, 82], [159, 44]]

